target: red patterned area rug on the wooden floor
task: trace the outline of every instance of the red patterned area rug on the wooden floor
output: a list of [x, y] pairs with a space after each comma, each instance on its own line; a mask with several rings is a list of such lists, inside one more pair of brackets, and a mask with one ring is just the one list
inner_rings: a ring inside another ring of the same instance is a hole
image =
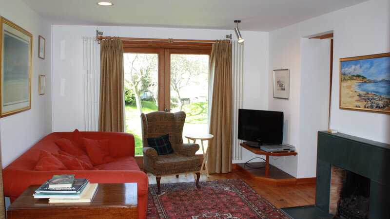
[[149, 185], [148, 219], [290, 219], [240, 179]]

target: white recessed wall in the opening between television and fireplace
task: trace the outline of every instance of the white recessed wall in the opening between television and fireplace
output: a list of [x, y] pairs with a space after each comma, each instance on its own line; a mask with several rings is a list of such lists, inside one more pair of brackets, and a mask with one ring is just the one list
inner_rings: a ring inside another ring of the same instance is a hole
[[328, 128], [330, 60], [330, 39], [301, 39], [299, 178], [315, 175], [317, 131]]

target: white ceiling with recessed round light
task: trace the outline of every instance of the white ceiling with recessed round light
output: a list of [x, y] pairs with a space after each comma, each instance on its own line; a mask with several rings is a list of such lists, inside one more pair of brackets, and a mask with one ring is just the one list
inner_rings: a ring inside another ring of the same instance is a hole
[[23, 0], [54, 25], [273, 31], [366, 0]]

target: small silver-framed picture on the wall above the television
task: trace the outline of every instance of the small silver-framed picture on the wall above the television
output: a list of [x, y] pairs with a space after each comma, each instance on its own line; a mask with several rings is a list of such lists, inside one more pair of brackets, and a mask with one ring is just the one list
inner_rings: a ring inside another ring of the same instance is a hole
[[290, 78], [288, 69], [273, 70], [273, 98], [289, 99]]

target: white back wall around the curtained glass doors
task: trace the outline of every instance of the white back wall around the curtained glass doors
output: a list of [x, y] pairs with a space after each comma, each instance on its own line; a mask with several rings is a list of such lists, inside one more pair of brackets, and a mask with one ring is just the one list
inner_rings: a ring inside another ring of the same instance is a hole
[[[232, 30], [59, 25], [52, 28], [54, 131], [85, 129], [81, 37], [94, 37], [97, 28], [104, 36], [119, 37], [223, 39], [228, 34], [234, 37]], [[268, 33], [242, 31], [241, 34], [245, 37], [243, 106], [265, 110], [268, 108]], [[243, 161], [252, 156], [251, 152], [243, 151]]]

